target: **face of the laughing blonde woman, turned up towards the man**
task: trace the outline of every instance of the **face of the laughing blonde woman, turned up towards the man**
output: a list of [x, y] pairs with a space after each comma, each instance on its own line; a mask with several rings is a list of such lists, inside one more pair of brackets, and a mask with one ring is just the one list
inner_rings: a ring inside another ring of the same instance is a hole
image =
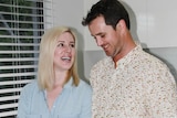
[[54, 51], [54, 69], [67, 71], [75, 60], [75, 39], [70, 32], [64, 32], [58, 39]]

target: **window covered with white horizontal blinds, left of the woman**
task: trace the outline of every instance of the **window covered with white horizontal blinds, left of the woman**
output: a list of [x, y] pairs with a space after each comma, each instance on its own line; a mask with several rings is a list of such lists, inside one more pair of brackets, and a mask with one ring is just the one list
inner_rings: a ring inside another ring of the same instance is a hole
[[15, 117], [22, 87], [35, 79], [50, 11], [51, 0], [0, 0], [0, 118]]

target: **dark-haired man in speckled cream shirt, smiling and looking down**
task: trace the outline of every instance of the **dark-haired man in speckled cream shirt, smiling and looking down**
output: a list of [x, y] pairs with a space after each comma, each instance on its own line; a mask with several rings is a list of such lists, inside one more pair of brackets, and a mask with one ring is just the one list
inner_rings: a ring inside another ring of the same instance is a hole
[[119, 1], [100, 0], [82, 24], [107, 55], [91, 69], [93, 118], [177, 117], [175, 78], [165, 63], [134, 42]]

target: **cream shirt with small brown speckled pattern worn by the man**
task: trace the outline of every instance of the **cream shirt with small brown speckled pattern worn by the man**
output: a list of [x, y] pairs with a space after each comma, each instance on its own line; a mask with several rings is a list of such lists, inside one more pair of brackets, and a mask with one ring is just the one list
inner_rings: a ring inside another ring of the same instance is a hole
[[93, 118], [177, 118], [176, 82], [169, 68], [137, 45], [117, 62], [91, 69]]

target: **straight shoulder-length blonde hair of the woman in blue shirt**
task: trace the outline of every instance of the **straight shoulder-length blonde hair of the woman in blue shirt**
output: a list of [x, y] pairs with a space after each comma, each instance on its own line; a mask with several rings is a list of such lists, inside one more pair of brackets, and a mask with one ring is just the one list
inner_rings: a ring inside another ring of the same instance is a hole
[[[53, 57], [54, 50], [56, 47], [56, 42], [59, 36], [64, 33], [70, 32], [74, 40], [76, 40], [75, 33], [66, 26], [56, 26], [49, 29], [41, 39], [40, 43], [40, 56], [39, 56], [39, 65], [38, 65], [38, 83], [41, 89], [52, 89], [54, 85], [54, 69], [53, 69]], [[76, 47], [76, 41], [75, 41]], [[67, 77], [65, 83], [73, 78], [73, 85], [77, 86], [80, 83], [79, 74], [77, 74], [77, 64], [76, 64], [76, 54], [75, 61], [72, 67], [69, 69]]]

